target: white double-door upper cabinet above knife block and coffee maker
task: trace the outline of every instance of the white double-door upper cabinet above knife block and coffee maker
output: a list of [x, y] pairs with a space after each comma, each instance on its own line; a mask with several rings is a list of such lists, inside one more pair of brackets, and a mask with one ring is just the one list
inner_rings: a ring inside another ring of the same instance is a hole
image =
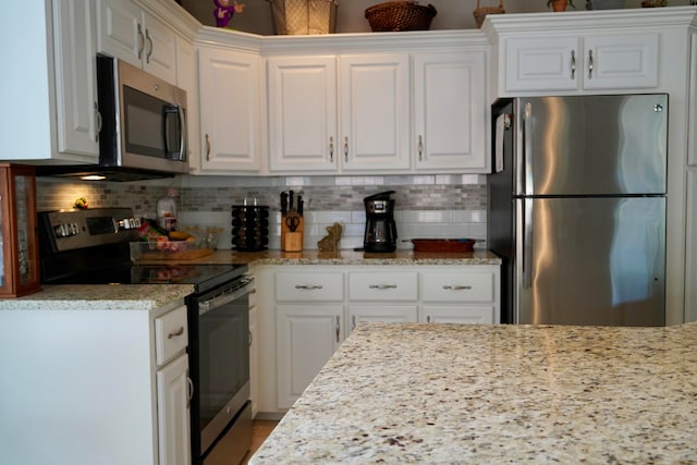
[[273, 173], [409, 168], [406, 53], [268, 59]]

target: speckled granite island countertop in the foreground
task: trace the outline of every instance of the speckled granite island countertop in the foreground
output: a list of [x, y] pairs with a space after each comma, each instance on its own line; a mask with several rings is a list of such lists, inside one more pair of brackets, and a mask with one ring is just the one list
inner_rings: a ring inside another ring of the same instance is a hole
[[376, 462], [697, 463], [697, 323], [364, 323], [250, 464]]

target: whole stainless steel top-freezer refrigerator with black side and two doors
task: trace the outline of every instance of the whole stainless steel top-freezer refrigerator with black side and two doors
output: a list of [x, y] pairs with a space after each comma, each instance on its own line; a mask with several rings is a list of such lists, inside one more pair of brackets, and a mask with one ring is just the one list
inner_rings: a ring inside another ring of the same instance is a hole
[[665, 323], [667, 137], [663, 94], [494, 102], [504, 322]]

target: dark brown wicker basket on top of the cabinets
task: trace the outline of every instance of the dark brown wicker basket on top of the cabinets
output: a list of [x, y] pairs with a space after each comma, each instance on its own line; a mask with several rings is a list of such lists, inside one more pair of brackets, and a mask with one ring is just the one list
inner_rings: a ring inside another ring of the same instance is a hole
[[415, 1], [388, 1], [366, 9], [366, 19], [374, 33], [428, 30], [437, 13], [432, 4], [421, 7]]

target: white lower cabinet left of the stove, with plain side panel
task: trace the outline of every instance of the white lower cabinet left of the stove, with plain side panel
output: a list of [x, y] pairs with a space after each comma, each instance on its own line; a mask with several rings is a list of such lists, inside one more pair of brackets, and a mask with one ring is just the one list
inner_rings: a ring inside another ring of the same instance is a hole
[[49, 307], [0, 311], [2, 463], [191, 464], [186, 307]]

